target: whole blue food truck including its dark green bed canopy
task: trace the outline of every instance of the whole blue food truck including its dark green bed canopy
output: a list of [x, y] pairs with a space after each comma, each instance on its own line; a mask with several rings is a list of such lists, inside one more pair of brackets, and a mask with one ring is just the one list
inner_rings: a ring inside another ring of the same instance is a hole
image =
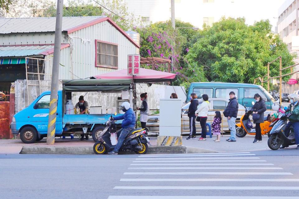
[[[71, 99], [72, 92], [120, 92], [130, 89], [131, 80], [63, 80], [63, 90], [58, 91], [55, 136], [69, 136], [70, 134], [97, 136], [105, 128], [109, 119], [108, 114], [64, 114], [65, 101]], [[112, 101], [112, 99], [111, 99]], [[15, 114], [10, 128], [15, 135], [20, 134], [24, 143], [34, 143], [47, 137], [50, 106], [50, 91], [43, 92], [27, 108]], [[117, 121], [120, 126], [121, 120]]]

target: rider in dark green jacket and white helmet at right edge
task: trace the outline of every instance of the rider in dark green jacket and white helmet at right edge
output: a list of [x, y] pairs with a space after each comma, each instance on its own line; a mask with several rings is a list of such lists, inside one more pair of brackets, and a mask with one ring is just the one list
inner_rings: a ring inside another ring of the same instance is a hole
[[[286, 114], [291, 113], [291, 115], [289, 116], [289, 122], [284, 130], [284, 135], [288, 137], [290, 133], [290, 127], [293, 126], [297, 144], [296, 149], [299, 149], [299, 96], [297, 94], [291, 94], [288, 95], [288, 98], [291, 99], [291, 104], [289, 105], [289, 111], [287, 111]], [[280, 148], [283, 149], [286, 147], [288, 147], [288, 145], [282, 145]]]

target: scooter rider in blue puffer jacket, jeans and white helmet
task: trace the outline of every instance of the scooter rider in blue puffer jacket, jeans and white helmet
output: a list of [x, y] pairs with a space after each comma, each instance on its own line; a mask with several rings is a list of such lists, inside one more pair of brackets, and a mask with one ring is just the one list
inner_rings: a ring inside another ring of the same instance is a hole
[[123, 102], [119, 107], [120, 110], [125, 112], [125, 114], [113, 117], [114, 120], [122, 119], [121, 127], [122, 131], [120, 136], [118, 137], [118, 141], [114, 150], [108, 152], [110, 155], [118, 154], [118, 150], [121, 148], [123, 141], [125, 140], [126, 136], [135, 128], [136, 123], [136, 115], [133, 109], [131, 109], [131, 105], [129, 102]]

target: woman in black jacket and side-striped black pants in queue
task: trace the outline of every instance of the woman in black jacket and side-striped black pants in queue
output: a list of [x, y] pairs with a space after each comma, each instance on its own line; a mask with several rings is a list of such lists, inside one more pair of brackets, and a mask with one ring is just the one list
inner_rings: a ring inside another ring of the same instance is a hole
[[196, 139], [195, 111], [197, 110], [197, 106], [198, 106], [197, 95], [195, 93], [192, 93], [189, 99], [191, 102], [188, 109], [190, 135], [189, 137], [187, 137], [187, 140], [192, 140], [192, 139]]

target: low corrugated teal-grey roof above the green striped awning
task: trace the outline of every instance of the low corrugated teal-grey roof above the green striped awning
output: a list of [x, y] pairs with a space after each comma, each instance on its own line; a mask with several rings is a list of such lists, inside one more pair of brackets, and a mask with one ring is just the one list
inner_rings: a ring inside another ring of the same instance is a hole
[[0, 57], [23, 57], [39, 55], [45, 50], [54, 48], [53, 45], [42, 46], [0, 46]]

